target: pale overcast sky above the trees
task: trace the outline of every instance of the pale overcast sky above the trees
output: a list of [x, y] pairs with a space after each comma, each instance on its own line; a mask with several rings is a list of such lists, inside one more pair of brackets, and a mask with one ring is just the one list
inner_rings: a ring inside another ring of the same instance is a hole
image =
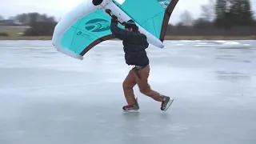
[[[61, 18], [68, 10], [78, 5], [82, 0], [1, 0], [0, 15], [9, 18], [16, 14], [38, 12]], [[203, 4], [209, 0], [179, 0], [171, 15], [170, 22], [176, 23], [184, 10], [190, 11], [194, 18], [198, 18]], [[256, 0], [252, 0], [253, 9], [256, 10]]]

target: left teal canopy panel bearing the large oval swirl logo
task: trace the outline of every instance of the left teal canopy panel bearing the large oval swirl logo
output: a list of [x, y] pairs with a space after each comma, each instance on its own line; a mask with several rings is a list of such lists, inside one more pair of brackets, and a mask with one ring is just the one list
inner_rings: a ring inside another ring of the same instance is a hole
[[[62, 36], [61, 45], [83, 56], [98, 43], [115, 38], [110, 31], [110, 21], [109, 15], [102, 10], [96, 10], [80, 18], [66, 30]], [[118, 26], [122, 28], [122, 25]]]

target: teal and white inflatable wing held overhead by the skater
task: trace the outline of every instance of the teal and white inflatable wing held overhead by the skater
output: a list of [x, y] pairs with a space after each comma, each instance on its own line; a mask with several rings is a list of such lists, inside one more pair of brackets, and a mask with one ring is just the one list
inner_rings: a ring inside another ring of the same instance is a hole
[[[118, 26], [133, 19], [147, 41], [160, 48], [170, 14], [178, 0], [85, 0], [70, 10], [54, 29], [53, 45], [63, 54], [83, 59], [98, 43], [115, 38], [110, 31], [110, 14], [118, 16]], [[146, 5], [146, 6], [144, 6]]]

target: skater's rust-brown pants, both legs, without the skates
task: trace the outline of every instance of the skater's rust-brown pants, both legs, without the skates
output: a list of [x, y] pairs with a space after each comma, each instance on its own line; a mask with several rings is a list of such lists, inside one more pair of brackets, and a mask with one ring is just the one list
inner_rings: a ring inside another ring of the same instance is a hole
[[151, 90], [150, 85], [148, 83], [148, 78], [150, 75], [150, 66], [144, 67], [142, 70], [138, 70], [138, 74], [140, 74], [141, 78], [138, 78], [138, 75], [135, 74], [134, 69], [130, 70], [129, 74], [126, 76], [126, 79], [122, 83], [123, 91], [126, 97], [126, 101], [128, 105], [132, 106], [135, 104], [135, 96], [134, 96], [134, 86], [138, 84], [138, 88], [142, 94], [153, 98], [155, 101], [162, 102], [163, 97], [154, 90]]

